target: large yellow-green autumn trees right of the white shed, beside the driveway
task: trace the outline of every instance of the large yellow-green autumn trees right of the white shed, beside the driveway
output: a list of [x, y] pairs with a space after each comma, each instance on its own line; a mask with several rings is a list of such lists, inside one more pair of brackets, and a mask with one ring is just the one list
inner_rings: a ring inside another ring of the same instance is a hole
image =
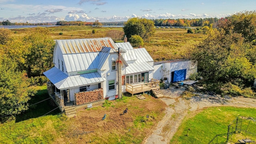
[[[254, 97], [256, 78], [256, 13], [243, 12], [210, 26], [206, 39], [191, 51], [206, 87], [224, 94]], [[246, 26], [240, 26], [240, 24]]]

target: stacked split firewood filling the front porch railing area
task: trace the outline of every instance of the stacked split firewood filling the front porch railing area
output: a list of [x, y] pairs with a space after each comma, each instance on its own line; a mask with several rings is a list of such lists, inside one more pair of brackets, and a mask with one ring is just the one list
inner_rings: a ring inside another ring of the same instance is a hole
[[79, 92], [76, 93], [76, 104], [85, 104], [87, 102], [93, 102], [96, 100], [103, 99], [103, 89], [99, 88], [93, 91], [88, 92]]

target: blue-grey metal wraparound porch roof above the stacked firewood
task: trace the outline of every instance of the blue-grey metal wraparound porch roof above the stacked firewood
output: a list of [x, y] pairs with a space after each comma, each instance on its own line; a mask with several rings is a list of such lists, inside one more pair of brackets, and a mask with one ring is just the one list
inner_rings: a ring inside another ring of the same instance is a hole
[[98, 72], [68, 76], [56, 67], [44, 72], [44, 75], [59, 90], [95, 84], [106, 80], [105, 78], [102, 78]]

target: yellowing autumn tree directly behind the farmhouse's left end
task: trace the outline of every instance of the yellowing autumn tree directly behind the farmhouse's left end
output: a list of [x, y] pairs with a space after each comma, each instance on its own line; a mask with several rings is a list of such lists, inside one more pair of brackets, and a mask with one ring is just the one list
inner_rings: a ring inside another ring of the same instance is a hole
[[40, 76], [50, 69], [55, 42], [48, 29], [31, 28], [24, 36], [12, 35], [3, 51], [18, 64], [20, 71], [26, 70], [28, 77]]

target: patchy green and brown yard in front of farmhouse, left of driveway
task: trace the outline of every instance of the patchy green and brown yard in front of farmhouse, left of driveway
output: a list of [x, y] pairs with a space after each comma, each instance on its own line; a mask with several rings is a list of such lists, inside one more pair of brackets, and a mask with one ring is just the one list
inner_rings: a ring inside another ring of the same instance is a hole
[[[48, 98], [46, 86], [36, 88], [38, 94], [30, 104]], [[144, 96], [145, 100], [130, 95], [123, 96], [122, 100], [106, 100], [102, 106], [78, 111], [71, 119], [58, 109], [46, 114], [56, 106], [45, 100], [0, 124], [0, 143], [80, 144], [94, 140], [94, 144], [140, 144], [162, 119], [166, 107], [161, 100]], [[128, 112], [123, 115], [125, 108]], [[104, 114], [106, 118], [102, 120]]]

